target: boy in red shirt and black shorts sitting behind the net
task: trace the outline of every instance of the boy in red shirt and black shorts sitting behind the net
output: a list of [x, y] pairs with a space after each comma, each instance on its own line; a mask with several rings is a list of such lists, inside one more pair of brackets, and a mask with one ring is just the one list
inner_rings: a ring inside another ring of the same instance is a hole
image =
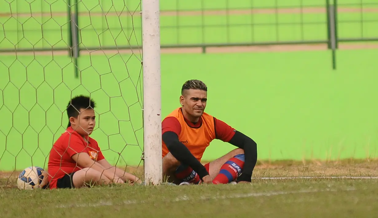
[[82, 95], [68, 103], [67, 130], [54, 143], [49, 155], [50, 189], [127, 181], [141, 183], [136, 176], [109, 164], [96, 140], [89, 137], [96, 124], [94, 108], [95, 102]]

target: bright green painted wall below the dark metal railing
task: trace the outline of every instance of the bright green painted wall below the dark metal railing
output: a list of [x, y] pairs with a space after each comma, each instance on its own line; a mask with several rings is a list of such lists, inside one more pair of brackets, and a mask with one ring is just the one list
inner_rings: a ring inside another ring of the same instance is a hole
[[[163, 54], [162, 115], [179, 106], [185, 80], [201, 79], [209, 88], [206, 112], [253, 138], [260, 160], [375, 158], [378, 52], [338, 55], [339, 68], [332, 71], [329, 51]], [[51, 145], [67, 125], [64, 110], [71, 94], [89, 93], [99, 114], [92, 136], [105, 157], [138, 165], [141, 67], [135, 58], [125, 68], [122, 57], [130, 56], [83, 55], [81, 84], [68, 57], [2, 56], [0, 169], [46, 166]], [[203, 159], [233, 148], [215, 140]]]

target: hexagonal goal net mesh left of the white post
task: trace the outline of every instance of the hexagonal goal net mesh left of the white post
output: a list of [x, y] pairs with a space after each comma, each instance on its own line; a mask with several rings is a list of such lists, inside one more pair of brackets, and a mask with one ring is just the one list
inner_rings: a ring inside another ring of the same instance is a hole
[[[77, 10], [80, 56], [70, 56]], [[135, 173], [143, 151], [140, 0], [0, 2], [0, 186], [47, 169], [79, 94], [96, 102], [91, 134], [110, 164]], [[75, 76], [75, 68], [78, 77]]]

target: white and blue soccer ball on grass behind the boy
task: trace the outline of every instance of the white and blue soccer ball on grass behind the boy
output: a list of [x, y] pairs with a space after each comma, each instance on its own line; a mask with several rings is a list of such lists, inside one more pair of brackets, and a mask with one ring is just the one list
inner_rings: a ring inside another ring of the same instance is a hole
[[41, 167], [28, 167], [17, 178], [17, 188], [20, 190], [33, 190], [44, 188], [47, 172]]

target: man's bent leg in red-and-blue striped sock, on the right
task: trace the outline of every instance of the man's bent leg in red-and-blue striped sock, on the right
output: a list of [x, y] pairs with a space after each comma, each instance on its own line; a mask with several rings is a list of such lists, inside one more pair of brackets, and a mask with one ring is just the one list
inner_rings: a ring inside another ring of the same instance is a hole
[[[244, 165], [244, 150], [236, 148], [208, 164], [213, 183], [229, 183], [237, 178]], [[238, 169], [241, 168], [241, 169]], [[230, 181], [231, 180], [231, 181]]]

